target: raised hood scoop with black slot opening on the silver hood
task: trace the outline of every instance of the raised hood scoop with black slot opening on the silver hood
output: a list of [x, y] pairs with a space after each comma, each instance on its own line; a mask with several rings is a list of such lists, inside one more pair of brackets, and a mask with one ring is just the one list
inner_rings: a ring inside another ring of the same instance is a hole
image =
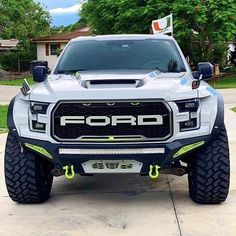
[[104, 88], [138, 88], [144, 85], [143, 79], [105, 79], [105, 80], [86, 80], [81, 84], [87, 89]]

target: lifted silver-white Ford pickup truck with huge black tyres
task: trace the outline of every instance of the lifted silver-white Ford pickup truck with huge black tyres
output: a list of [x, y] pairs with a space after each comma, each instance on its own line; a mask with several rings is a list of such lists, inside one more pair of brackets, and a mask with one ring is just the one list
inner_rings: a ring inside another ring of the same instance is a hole
[[229, 189], [222, 95], [193, 74], [163, 35], [73, 39], [57, 65], [37, 66], [10, 103], [5, 151], [9, 196], [48, 199], [53, 177], [75, 174], [188, 174], [197, 203], [221, 203]]

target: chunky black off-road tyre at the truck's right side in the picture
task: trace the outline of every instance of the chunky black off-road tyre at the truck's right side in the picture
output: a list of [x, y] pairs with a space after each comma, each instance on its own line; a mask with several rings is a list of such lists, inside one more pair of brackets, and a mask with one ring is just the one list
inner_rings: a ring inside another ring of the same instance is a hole
[[228, 137], [222, 126], [214, 140], [197, 151], [189, 163], [190, 197], [197, 203], [222, 203], [228, 196], [229, 179]]

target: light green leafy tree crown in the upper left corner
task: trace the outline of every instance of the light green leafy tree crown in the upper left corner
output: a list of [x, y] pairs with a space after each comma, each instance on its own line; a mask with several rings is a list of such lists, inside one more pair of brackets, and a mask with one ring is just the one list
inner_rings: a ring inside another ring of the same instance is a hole
[[0, 37], [19, 39], [28, 46], [29, 39], [50, 32], [51, 17], [33, 0], [1, 0]]

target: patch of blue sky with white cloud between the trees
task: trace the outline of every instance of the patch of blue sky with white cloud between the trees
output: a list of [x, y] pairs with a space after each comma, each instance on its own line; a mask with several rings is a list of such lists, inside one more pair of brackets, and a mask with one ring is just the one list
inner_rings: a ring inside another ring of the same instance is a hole
[[83, 0], [34, 0], [40, 2], [52, 15], [52, 25], [69, 25], [78, 20]]

